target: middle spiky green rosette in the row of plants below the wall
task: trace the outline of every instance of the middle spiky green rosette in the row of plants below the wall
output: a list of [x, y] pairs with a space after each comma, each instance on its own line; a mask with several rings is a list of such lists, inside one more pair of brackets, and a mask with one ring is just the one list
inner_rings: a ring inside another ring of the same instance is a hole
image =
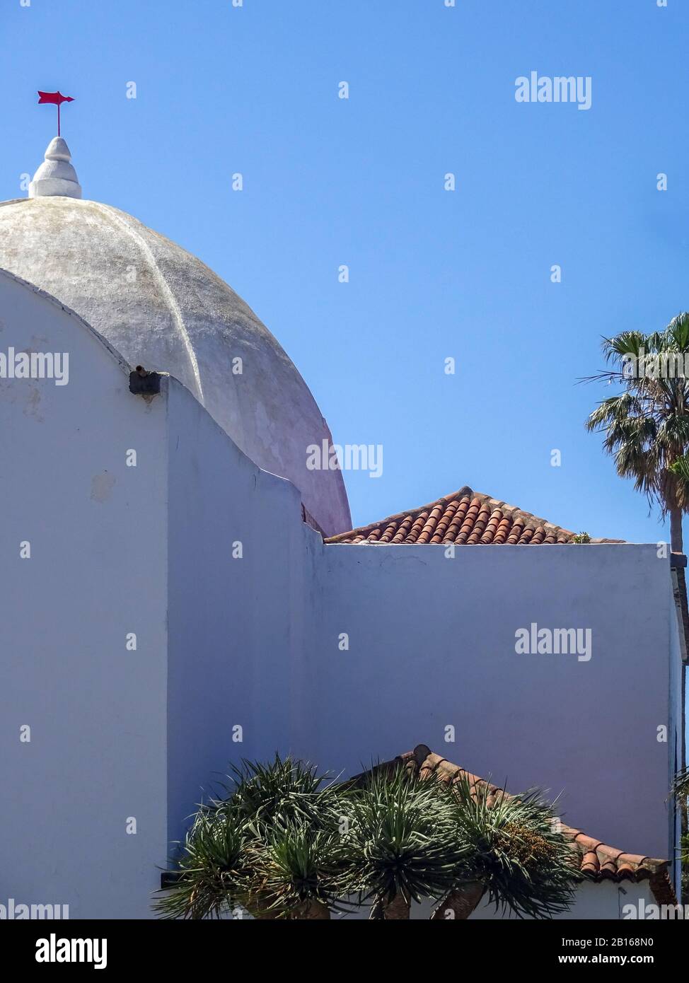
[[466, 847], [438, 782], [403, 767], [373, 769], [343, 814], [349, 888], [372, 901], [372, 918], [407, 919], [412, 900], [442, 896], [454, 883]]

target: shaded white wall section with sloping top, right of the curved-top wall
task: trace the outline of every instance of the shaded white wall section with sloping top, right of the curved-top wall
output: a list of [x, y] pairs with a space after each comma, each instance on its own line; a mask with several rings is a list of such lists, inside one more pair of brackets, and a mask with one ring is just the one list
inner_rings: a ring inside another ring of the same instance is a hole
[[[201, 786], [207, 794], [230, 760], [306, 748], [312, 710], [305, 557], [322, 544], [302, 522], [293, 485], [260, 471], [172, 379], [168, 401], [168, 787], [175, 838]], [[239, 545], [241, 557], [233, 555]]]

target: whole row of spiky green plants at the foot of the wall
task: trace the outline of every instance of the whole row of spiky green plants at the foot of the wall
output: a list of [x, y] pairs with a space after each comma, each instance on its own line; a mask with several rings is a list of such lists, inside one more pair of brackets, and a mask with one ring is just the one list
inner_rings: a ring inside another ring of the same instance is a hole
[[[482, 790], [483, 788], [483, 790]], [[385, 911], [480, 882], [496, 906], [549, 917], [579, 877], [573, 851], [536, 792], [490, 796], [467, 780], [373, 769], [358, 786], [326, 784], [278, 756], [244, 762], [225, 798], [201, 805], [176, 860], [165, 918], [328, 917], [347, 898]], [[392, 916], [391, 912], [388, 916]]]

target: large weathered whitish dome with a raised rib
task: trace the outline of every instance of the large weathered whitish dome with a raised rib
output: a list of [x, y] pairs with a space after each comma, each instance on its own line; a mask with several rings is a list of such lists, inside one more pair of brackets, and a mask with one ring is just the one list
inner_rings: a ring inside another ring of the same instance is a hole
[[0, 266], [76, 311], [132, 366], [180, 379], [258, 467], [296, 485], [325, 535], [349, 529], [341, 472], [307, 468], [307, 447], [331, 442], [316, 400], [241, 297], [117, 208], [34, 194], [0, 202]]

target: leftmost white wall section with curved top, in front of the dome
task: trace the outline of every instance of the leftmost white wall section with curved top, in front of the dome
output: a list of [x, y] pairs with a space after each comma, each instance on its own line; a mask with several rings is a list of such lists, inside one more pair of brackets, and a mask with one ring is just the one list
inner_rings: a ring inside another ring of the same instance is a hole
[[165, 407], [0, 271], [11, 346], [69, 353], [70, 376], [0, 378], [0, 903], [144, 917], [166, 838]]

